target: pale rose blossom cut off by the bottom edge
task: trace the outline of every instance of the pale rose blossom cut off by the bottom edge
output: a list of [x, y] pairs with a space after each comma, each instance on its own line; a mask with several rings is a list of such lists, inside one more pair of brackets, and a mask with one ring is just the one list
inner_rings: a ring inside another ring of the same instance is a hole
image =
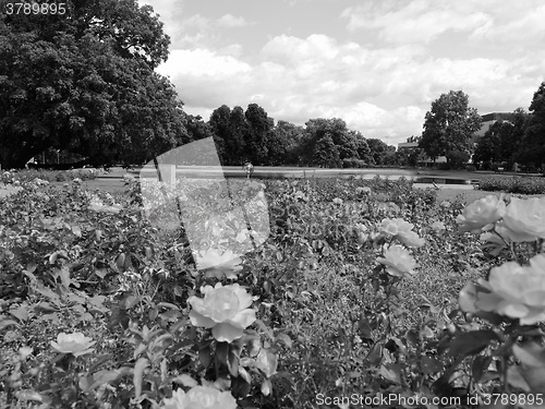
[[237, 400], [230, 392], [211, 386], [194, 386], [187, 393], [178, 388], [171, 398], [165, 398], [160, 409], [237, 409]]

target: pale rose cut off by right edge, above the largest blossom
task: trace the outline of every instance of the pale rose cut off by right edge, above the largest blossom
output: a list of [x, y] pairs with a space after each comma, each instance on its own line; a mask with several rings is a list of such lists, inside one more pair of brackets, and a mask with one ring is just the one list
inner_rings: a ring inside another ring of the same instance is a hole
[[514, 242], [545, 239], [545, 196], [511, 199], [504, 216], [504, 225]]

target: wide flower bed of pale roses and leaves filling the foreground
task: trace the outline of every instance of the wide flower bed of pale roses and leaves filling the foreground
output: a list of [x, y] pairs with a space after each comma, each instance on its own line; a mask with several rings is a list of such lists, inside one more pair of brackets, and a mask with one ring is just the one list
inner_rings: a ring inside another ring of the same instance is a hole
[[0, 199], [1, 407], [543, 404], [545, 199], [187, 183]]

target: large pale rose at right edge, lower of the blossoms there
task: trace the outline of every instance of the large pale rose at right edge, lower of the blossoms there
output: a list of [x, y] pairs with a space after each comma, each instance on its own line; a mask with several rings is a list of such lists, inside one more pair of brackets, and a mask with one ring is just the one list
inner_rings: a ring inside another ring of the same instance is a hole
[[[493, 311], [511, 318], [519, 318], [522, 325], [545, 321], [545, 254], [530, 260], [530, 266], [508, 262], [493, 267], [488, 281], [479, 281], [460, 291], [459, 303], [468, 312]], [[488, 292], [486, 292], [488, 291]]]

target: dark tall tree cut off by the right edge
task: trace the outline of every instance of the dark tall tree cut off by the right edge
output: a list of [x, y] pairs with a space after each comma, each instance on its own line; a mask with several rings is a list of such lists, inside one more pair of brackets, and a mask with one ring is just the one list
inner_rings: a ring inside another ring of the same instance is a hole
[[541, 166], [545, 163], [545, 82], [534, 93], [530, 112], [518, 157], [523, 164]]

